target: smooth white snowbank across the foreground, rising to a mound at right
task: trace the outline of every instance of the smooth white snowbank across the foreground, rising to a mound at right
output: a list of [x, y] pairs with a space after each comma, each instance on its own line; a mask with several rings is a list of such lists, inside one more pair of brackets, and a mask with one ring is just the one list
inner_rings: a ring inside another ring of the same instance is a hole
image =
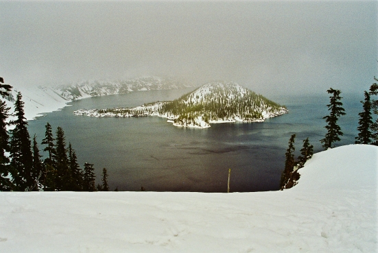
[[285, 191], [0, 193], [0, 252], [378, 252], [377, 169], [348, 145]]

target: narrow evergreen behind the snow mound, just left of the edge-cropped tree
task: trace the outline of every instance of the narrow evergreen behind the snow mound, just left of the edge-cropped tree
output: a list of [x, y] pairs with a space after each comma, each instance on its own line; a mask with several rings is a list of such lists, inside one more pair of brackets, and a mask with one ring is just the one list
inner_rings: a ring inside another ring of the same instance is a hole
[[371, 117], [371, 102], [370, 95], [367, 91], [364, 93], [365, 101], [361, 101], [364, 111], [359, 112], [359, 126], [357, 130], [359, 131], [358, 136], [355, 137], [356, 144], [370, 144], [373, 138], [373, 133], [371, 132], [371, 125], [373, 124], [373, 118]]

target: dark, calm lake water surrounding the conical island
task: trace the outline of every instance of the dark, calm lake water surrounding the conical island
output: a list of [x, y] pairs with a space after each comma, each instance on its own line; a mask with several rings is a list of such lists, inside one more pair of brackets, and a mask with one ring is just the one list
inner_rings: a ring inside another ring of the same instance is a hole
[[[97, 183], [106, 167], [110, 189], [118, 186], [120, 191], [139, 191], [143, 186], [147, 191], [225, 192], [229, 168], [231, 191], [277, 190], [292, 134], [297, 136], [297, 151], [307, 137], [316, 151], [322, 150], [319, 140], [325, 134], [322, 117], [328, 115], [327, 94], [268, 97], [286, 105], [290, 113], [264, 123], [221, 123], [206, 129], [178, 128], [159, 117], [98, 119], [73, 115], [80, 108], [139, 106], [175, 99], [189, 91], [137, 91], [73, 101], [71, 106], [29, 121], [28, 129], [40, 143], [47, 122], [54, 130], [62, 127], [80, 165], [94, 164]], [[362, 110], [362, 96], [342, 96], [346, 116], [340, 119], [340, 126], [344, 136], [337, 145], [354, 143], [357, 114]]]

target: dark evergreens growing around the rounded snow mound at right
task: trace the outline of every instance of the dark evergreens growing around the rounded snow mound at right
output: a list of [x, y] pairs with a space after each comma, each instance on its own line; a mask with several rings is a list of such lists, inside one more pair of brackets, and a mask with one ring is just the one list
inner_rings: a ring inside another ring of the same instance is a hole
[[[362, 103], [362, 112], [359, 112], [358, 134], [355, 137], [355, 144], [367, 144], [378, 146], [378, 119], [373, 121], [373, 114], [378, 115], [378, 100], [371, 99], [373, 95], [378, 95], [378, 79], [374, 77], [375, 83], [370, 86], [369, 91], [364, 91], [364, 101]], [[329, 115], [323, 117], [327, 125], [324, 128], [327, 133], [324, 138], [320, 140], [324, 150], [335, 147], [335, 142], [340, 141], [340, 136], [343, 135], [338, 119], [342, 115], [346, 115], [342, 102], [340, 101], [341, 91], [329, 88], [327, 93], [331, 94], [330, 102], [327, 104]], [[373, 111], [373, 112], [372, 112]], [[280, 189], [289, 189], [297, 184], [300, 177], [298, 169], [305, 165], [305, 162], [314, 154], [314, 146], [309, 144], [309, 138], [303, 141], [303, 148], [300, 149], [300, 156], [298, 159], [294, 158], [294, 142], [296, 134], [292, 134], [289, 139], [289, 147], [285, 153], [285, 167], [281, 174]]]

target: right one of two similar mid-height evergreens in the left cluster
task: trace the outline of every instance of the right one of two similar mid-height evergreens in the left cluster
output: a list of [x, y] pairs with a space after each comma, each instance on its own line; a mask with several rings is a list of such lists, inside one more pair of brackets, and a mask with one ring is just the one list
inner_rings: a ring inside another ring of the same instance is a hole
[[71, 191], [72, 178], [69, 171], [66, 141], [64, 131], [58, 127], [56, 130], [56, 154], [54, 155], [56, 169], [56, 188], [58, 191]]

